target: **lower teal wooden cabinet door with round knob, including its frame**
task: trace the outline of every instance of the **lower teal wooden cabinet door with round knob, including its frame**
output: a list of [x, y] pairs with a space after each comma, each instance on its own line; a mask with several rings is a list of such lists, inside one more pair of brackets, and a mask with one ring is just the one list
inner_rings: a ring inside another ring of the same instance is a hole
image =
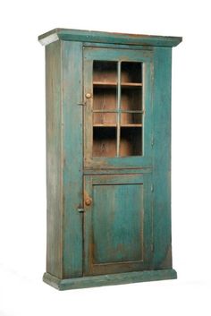
[[84, 275], [148, 269], [151, 176], [84, 177]]

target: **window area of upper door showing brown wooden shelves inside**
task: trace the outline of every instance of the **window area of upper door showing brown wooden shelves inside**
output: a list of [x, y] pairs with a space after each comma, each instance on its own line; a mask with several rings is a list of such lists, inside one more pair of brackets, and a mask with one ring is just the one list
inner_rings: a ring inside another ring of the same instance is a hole
[[93, 157], [142, 155], [142, 63], [93, 62]]

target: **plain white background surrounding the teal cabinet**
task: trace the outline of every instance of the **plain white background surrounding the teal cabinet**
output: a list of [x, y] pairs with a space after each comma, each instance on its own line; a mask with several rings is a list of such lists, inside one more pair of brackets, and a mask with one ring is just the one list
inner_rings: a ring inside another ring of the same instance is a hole
[[[0, 316], [211, 314], [209, 1], [4, 1], [0, 7]], [[46, 266], [45, 59], [60, 28], [182, 36], [173, 48], [178, 280], [58, 292]]]

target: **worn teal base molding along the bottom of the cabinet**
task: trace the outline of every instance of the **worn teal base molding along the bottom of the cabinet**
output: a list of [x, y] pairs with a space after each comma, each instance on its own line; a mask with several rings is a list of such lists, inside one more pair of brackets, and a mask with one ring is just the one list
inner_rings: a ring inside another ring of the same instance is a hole
[[147, 281], [159, 281], [177, 278], [174, 269], [146, 270], [127, 273], [116, 273], [81, 278], [55, 278], [49, 273], [44, 273], [43, 281], [57, 290], [69, 290], [75, 288], [94, 287], [94, 286], [114, 286], [128, 283], [138, 283]]

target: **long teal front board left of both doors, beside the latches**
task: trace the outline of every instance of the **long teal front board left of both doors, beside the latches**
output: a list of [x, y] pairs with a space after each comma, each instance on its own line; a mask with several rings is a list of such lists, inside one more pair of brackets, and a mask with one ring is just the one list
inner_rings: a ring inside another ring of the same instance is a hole
[[63, 278], [82, 276], [82, 44], [62, 42]]

